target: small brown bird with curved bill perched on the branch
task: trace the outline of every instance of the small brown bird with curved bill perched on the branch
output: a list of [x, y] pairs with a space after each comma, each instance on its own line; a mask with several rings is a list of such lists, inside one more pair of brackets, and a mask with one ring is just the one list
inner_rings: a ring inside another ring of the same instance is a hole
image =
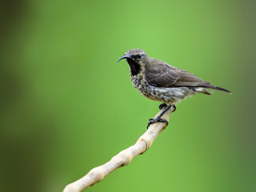
[[213, 86], [210, 82], [206, 82], [186, 70], [170, 66], [156, 58], [150, 58], [141, 49], [128, 50], [118, 59], [118, 62], [122, 59], [126, 59], [130, 66], [130, 79], [134, 87], [146, 98], [162, 102], [159, 106], [160, 110], [164, 108], [162, 113], [157, 118], [150, 118], [147, 127], [155, 122], [166, 122], [167, 126], [168, 122], [166, 119], [162, 119], [162, 115], [170, 107], [176, 110], [178, 102], [194, 94], [210, 94], [207, 89], [221, 90], [232, 94], [230, 90]]

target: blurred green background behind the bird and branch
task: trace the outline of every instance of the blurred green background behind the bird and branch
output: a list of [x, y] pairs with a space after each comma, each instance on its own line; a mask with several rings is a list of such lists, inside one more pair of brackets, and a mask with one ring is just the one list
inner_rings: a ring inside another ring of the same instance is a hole
[[233, 91], [178, 104], [146, 154], [87, 191], [255, 191], [254, 1], [2, 1], [0, 190], [62, 191], [160, 103], [117, 62], [141, 48]]

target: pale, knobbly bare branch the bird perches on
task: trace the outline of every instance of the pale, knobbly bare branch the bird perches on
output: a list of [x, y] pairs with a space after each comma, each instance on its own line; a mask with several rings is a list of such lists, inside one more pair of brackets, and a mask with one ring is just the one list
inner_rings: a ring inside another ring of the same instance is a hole
[[[162, 118], [169, 121], [172, 110], [173, 107], [171, 107], [170, 110], [167, 110]], [[156, 118], [161, 112], [162, 110], [160, 110], [154, 118]], [[142, 136], [138, 138], [138, 141], [134, 144], [134, 146], [130, 146], [126, 150], [122, 150], [119, 154], [115, 155], [110, 159], [109, 162], [106, 162], [104, 165], [95, 167], [94, 169], [90, 170], [90, 172], [82, 178], [67, 185], [63, 192], [80, 192], [85, 190], [88, 186], [92, 186], [96, 182], [102, 181], [102, 179], [112, 171], [118, 169], [121, 166], [127, 166], [138, 154], [143, 154], [146, 152], [146, 150], [150, 149], [154, 139], [158, 137], [158, 134], [160, 134], [165, 128], [165, 122], [157, 122], [150, 125], [145, 134], [142, 134]]]

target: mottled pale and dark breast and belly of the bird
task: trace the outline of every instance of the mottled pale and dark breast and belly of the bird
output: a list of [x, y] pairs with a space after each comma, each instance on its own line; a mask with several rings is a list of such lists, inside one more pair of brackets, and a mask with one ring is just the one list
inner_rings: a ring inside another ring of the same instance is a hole
[[177, 103], [191, 94], [187, 87], [157, 87], [151, 86], [145, 81], [139, 81], [139, 79], [133, 79], [132, 82], [146, 98], [166, 104]]

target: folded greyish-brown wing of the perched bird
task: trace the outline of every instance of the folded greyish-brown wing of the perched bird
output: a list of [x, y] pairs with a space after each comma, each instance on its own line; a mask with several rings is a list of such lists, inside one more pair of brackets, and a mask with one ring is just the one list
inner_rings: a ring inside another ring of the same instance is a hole
[[[154, 62], [155, 63], [155, 62]], [[210, 86], [194, 74], [165, 62], [158, 62], [146, 70], [146, 81], [152, 86], [174, 87], [174, 86]]]

